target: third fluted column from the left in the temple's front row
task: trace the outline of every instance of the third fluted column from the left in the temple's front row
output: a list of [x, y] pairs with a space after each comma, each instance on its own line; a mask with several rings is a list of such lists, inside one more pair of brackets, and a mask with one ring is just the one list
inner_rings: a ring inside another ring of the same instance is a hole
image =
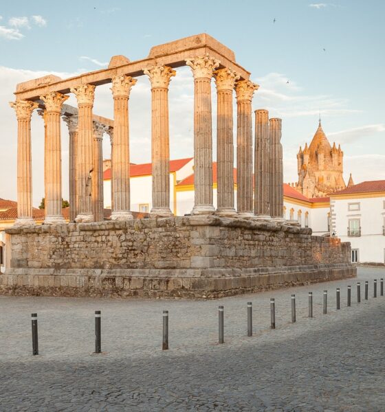
[[81, 84], [71, 89], [78, 100], [78, 215], [76, 222], [93, 222], [94, 214], [91, 201], [91, 179], [94, 170], [92, 149], [94, 128], [92, 107], [94, 106], [95, 86]]

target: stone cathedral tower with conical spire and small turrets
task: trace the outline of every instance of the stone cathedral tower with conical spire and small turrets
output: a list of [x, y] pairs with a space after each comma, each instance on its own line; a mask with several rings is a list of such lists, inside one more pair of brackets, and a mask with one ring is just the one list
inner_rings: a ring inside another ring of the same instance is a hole
[[298, 183], [296, 189], [308, 198], [329, 196], [346, 187], [342, 173], [344, 171], [344, 152], [340, 145], [331, 147], [322, 130], [321, 121], [316, 134], [308, 147], [297, 155]]

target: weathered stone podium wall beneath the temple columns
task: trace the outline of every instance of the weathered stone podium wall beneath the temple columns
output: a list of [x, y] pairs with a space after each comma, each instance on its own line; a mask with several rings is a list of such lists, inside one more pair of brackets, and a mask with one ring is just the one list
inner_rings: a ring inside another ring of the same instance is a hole
[[3, 293], [216, 297], [355, 275], [311, 229], [197, 216], [8, 229]]

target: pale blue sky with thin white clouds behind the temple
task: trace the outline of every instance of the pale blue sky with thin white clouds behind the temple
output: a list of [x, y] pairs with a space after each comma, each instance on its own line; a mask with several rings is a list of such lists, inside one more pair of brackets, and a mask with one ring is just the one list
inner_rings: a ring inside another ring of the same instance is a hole
[[[253, 111], [283, 119], [284, 181], [298, 180], [296, 153], [322, 128], [344, 151], [344, 178], [385, 179], [385, 1], [41, 0], [0, 5], [0, 198], [17, 198], [17, 119], [8, 102], [19, 82], [107, 67], [111, 56], [145, 58], [153, 45], [206, 32], [232, 49], [260, 84]], [[274, 22], [275, 19], [275, 22]], [[288, 81], [288, 83], [287, 83]], [[170, 157], [193, 155], [193, 80], [170, 82]], [[235, 98], [234, 98], [235, 100]], [[76, 105], [72, 95], [68, 104]], [[212, 82], [213, 144], [216, 96]], [[138, 78], [129, 102], [131, 161], [151, 161], [151, 90]], [[109, 85], [94, 113], [113, 115]], [[234, 124], [234, 126], [236, 126]], [[104, 157], [109, 158], [107, 135]], [[214, 151], [214, 160], [215, 160]], [[68, 131], [62, 125], [63, 197], [68, 198]], [[34, 206], [44, 196], [43, 120], [32, 115]]]

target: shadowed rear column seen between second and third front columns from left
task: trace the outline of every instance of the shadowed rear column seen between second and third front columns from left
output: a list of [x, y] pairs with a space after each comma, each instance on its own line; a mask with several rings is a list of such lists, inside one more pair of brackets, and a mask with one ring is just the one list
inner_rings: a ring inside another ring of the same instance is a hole
[[74, 222], [78, 216], [78, 116], [63, 116], [63, 120], [67, 123], [69, 133], [69, 220]]

